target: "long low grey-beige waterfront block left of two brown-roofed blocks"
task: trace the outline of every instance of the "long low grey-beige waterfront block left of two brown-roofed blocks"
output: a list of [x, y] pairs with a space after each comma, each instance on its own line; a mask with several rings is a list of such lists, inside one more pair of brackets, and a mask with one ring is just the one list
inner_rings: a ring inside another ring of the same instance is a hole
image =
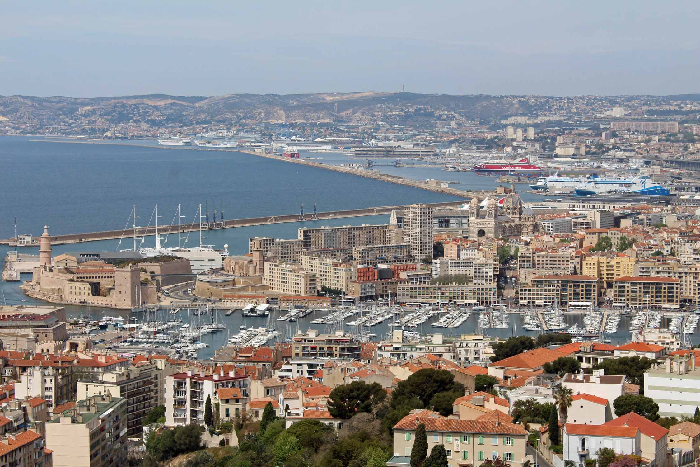
[[399, 285], [396, 292], [396, 301], [402, 303], [493, 305], [497, 300], [494, 285], [407, 284]]

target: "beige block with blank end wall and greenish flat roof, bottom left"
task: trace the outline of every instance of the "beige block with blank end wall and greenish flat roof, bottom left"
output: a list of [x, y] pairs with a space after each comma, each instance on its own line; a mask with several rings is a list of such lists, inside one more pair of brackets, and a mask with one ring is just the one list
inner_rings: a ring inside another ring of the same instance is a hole
[[45, 424], [54, 467], [118, 467], [127, 464], [127, 400], [103, 394], [79, 400]]

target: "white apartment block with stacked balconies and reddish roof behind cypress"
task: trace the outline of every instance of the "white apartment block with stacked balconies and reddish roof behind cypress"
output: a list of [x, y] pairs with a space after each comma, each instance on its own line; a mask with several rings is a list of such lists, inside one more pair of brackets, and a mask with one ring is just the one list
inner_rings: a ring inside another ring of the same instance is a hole
[[214, 400], [221, 388], [238, 388], [241, 396], [248, 397], [250, 376], [228, 372], [206, 374], [192, 370], [179, 372], [165, 378], [165, 424], [185, 426], [204, 424], [204, 407], [207, 397]]

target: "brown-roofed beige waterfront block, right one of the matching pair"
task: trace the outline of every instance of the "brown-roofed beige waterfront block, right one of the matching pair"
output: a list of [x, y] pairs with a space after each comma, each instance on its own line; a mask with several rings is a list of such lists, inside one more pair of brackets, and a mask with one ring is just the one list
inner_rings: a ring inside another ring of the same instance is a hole
[[671, 277], [617, 277], [612, 282], [613, 305], [679, 308], [680, 281]]

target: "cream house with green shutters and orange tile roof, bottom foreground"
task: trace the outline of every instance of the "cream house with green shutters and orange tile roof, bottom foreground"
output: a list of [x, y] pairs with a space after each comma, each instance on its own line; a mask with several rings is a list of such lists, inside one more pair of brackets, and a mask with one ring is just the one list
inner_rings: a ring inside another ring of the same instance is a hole
[[[512, 466], [525, 460], [528, 432], [519, 425], [497, 420], [459, 420], [437, 412], [414, 410], [393, 426], [393, 454], [410, 456], [419, 424], [426, 426], [428, 453], [444, 445], [452, 466], [475, 466], [500, 457]], [[391, 459], [387, 463], [391, 465]]]

